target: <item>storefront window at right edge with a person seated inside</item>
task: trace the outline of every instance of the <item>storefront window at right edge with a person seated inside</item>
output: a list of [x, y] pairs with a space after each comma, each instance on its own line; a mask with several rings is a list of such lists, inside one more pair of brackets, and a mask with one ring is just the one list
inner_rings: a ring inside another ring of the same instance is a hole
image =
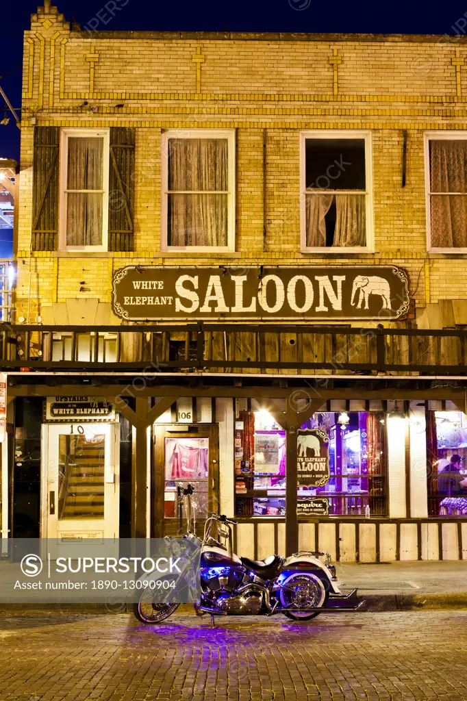
[[428, 411], [428, 515], [467, 515], [467, 416]]

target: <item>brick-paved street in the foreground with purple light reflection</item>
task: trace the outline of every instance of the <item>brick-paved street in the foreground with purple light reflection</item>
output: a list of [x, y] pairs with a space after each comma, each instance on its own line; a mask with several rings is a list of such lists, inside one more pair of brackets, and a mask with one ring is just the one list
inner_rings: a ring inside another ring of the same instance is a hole
[[8, 615], [0, 700], [467, 699], [467, 611], [217, 622]]

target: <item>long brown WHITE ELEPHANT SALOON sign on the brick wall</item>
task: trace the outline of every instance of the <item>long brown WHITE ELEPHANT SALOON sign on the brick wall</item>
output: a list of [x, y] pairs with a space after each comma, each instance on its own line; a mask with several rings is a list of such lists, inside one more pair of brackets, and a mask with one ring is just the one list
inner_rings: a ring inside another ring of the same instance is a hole
[[180, 268], [114, 273], [114, 313], [149, 320], [399, 319], [409, 311], [407, 272], [396, 266]]

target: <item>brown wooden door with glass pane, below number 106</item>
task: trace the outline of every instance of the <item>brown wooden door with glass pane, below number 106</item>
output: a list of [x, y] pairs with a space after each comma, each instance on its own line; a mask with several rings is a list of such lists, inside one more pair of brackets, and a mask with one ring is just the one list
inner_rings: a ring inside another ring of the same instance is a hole
[[180, 425], [154, 426], [154, 492], [152, 499], [154, 536], [182, 535], [186, 514], [177, 488], [194, 487], [191, 503], [196, 533], [202, 534], [205, 520], [219, 508], [219, 431], [217, 425], [201, 424], [180, 430]]

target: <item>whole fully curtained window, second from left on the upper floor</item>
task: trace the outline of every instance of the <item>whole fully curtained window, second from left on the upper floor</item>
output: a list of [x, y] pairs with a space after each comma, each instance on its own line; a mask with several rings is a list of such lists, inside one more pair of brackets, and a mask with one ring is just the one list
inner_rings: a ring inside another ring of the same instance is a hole
[[162, 250], [235, 248], [234, 131], [163, 133]]

